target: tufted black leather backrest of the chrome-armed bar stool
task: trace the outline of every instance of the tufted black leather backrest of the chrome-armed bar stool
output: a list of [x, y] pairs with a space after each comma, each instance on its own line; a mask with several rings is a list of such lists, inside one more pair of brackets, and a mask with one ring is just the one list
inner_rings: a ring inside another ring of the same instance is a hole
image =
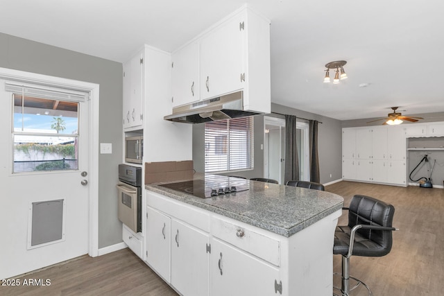
[[[357, 224], [379, 225], [392, 227], [395, 207], [393, 205], [371, 198], [366, 195], [355, 195], [350, 202], [348, 210], [348, 226], [352, 228]], [[358, 229], [359, 234], [384, 247], [378, 256], [388, 254], [392, 246], [392, 231], [375, 229]]]

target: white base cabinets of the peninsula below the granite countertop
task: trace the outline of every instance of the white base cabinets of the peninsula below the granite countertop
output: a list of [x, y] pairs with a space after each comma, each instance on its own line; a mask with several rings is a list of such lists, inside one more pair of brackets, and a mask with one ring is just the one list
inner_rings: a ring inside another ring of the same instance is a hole
[[149, 190], [146, 205], [146, 263], [180, 295], [331, 295], [341, 210], [286, 237]]

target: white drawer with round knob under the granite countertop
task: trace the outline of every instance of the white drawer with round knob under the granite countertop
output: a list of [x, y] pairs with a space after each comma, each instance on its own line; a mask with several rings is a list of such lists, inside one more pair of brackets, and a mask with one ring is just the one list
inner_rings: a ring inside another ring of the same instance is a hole
[[[259, 233], [253, 227], [212, 217], [212, 234], [273, 265], [280, 266], [280, 241]], [[258, 229], [259, 230], [259, 229]]]

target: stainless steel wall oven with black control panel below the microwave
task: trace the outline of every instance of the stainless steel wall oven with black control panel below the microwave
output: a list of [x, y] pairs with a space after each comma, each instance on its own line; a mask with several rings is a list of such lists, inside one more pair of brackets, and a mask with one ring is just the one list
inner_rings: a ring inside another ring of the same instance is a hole
[[142, 168], [119, 164], [119, 220], [133, 232], [142, 232]]

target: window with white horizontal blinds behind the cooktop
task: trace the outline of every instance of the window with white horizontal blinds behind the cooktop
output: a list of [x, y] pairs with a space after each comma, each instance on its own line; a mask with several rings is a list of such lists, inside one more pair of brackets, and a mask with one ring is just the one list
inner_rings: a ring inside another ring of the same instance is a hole
[[253, 168], [253, 116], [205, 123], [205, 172]]

